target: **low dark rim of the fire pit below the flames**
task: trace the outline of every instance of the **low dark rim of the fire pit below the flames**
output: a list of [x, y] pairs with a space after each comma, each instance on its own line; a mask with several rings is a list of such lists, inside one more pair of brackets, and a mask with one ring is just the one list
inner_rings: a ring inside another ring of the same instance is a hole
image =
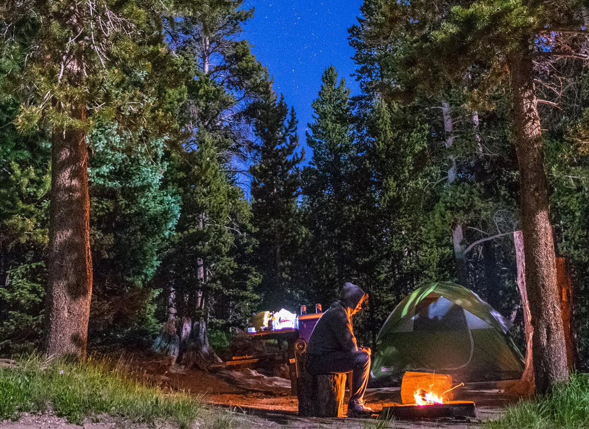
[[447, 404], [407, 404], [383, 407], [380, 416], [406, 420], [441, 417], [466, 418], [477, 417], [477, 410], [472, 401], [449, 401]]

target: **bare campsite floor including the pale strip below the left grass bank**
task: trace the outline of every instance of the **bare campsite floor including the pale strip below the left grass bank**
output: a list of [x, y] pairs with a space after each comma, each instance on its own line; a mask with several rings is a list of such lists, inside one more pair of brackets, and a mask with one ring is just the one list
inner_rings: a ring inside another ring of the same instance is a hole
[[[297, 415], [297, 398], [290, 395], [290, 381], [281, 377], [266, 377], [253, 370], [236, 371], [201, 371], [195, 368], [168, 367], [157, 355], [135, 354], [127, 356], [127, 363], [135, 370], [141, 371], [153, 383], [174, 390], [189, 391], [197, 395], [203, 403], [208, 404], [208, 413], [214, 414], [217, 423], [207, 418], [197, 421], [195, 428], [258, 428], [258, 427], [289, 427], [289, 428], [330, 428], [330, 429], [368, 429], [394, 427], [395, 429], [418, 428], [454, 428], [474, 429], [481, 423], [492, 420], [502, 414], [505, 406], [517, 402], [517, 398], [509, 398], [505, 394], [507, 382], [471, 383], [454, 390], [455, 400], [474, 401], [477, 407], [477, 418], [457, 420], [442, 418], [435, 420], [407, 421], [397, 420], [383, 425], [372, 418], [303, 418]], [[347, 403], [348, 391], [346, 391]], [[399, 387], [369, 388], [365, 395], [366, 404], [376, 413], [383, 407], [401, 403]], [[344, 406], [344, 413], [346, 412]], [[221, 416], [221, 417], [220, 417]], [[96, 419], [95, 419], [96, 420]], [[87, 421], [88, 429], [128, 428], [138, 429], [154, 427], [142, 425], [120, 418], [100, 417], [100, 421]], [[169, 424], [155, 425], [171, 428]], [[48, 413], [45, 415], [24, 414], [18, 422], [0, 422], [0, 429], [76, 429], [80, 426], [68, 424], [64, 419]]]

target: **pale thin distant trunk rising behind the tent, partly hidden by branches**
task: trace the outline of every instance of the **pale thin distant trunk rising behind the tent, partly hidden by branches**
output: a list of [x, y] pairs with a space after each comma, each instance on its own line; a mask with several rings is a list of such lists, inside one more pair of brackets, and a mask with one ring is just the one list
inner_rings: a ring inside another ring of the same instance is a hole
[[[452, 121], [452, 111], [450, 104], [442, 100], [442, 115], [444, 117], [444, 131], [446, 133], [446, 149], [454, 144], [454, 124]], [[452, 183], [458, 177], [458, 167], [454, 155], [448, 156], [448, 183]], [[464, 243], [464, 230], [462, 225], [452, 225], [452, 242], [454, 243], [454, 261], [456, 264], [456, 277], [458, 284], [468, 287], [468, 263], [466, 261], [466, 246]]]

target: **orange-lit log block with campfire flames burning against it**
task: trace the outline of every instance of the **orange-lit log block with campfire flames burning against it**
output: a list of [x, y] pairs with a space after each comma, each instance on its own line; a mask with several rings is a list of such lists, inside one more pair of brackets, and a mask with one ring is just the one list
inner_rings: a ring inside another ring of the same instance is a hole
[[412, 373], [407, 371], [401, 382], [403, 404], [443, 404], [454, 398], [452, 376], [433, 373]]

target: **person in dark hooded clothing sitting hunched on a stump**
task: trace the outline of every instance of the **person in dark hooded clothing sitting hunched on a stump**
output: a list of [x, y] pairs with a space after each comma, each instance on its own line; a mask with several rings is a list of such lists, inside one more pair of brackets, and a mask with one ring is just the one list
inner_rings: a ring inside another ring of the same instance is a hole
[[360, 311], [366, 298], [368, 294], [362, 289], [346, 283], [337, 301], [317, 321], [307, 347], [311, 374], [352, 372], [348, 417], [373, 412], [363, 400], [370, 373], [370, 348], [358, 347], [352, 328], [352, 316]]

